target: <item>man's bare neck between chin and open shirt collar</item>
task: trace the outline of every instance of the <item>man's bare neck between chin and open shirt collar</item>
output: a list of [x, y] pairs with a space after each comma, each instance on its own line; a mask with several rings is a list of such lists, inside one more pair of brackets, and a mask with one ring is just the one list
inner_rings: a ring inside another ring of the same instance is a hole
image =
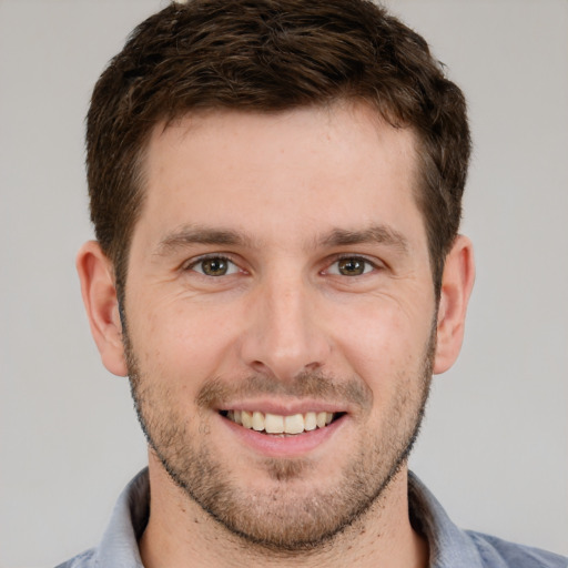
[[187, 497], [151, 454], [151, 514], [140, 540], [142, 561], [146, 568], [426, 568], [428, 546], [410, 526], [407, 479], [404, 467], [363, 517], [322, 546], [278, 552], [230, 532]]

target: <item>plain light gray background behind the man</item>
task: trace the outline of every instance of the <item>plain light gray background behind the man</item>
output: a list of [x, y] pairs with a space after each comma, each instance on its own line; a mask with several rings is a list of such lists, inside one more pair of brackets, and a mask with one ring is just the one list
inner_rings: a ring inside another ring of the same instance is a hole
[[[568, 554], [568, 2], [392, 0], [465, 90], [466, 343], [412, 458], [462, 526]], [[83, 116], [156, 0], [0, 0], [0, 566], [95, 544], [145, 463], [125, 379], [91, 341]]]

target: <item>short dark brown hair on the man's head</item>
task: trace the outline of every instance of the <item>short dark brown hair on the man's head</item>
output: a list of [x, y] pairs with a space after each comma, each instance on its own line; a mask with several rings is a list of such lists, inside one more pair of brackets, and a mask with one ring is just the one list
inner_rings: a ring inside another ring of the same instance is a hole
[[368, 0], [189, 0], [142, 22], [92, 95], [91, 220], [123, 292], [153, 126], [192, 111], [275, 112], [362, 100], [418, 140], [433, 278], [457, 234], [470, 153], [462, 91], [426, 41]]

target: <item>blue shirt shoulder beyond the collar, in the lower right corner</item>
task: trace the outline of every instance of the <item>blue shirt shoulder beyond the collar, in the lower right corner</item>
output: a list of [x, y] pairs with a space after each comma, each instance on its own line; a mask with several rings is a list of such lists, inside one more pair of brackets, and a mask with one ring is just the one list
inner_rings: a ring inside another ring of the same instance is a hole
[[539, 548], [466, 530], [487, 568], [568, 568], [568, 559]]

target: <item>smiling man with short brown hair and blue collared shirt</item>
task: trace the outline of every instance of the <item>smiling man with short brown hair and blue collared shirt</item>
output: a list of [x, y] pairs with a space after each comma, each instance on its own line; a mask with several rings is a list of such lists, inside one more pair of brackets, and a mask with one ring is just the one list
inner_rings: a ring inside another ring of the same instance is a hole
[[358, 0], [194, 0], [88, 118], [78, 270], [149, 469], [64, 566], [565, 566], [464, 532], [408, 473], [474, 281], [459, 89]]

